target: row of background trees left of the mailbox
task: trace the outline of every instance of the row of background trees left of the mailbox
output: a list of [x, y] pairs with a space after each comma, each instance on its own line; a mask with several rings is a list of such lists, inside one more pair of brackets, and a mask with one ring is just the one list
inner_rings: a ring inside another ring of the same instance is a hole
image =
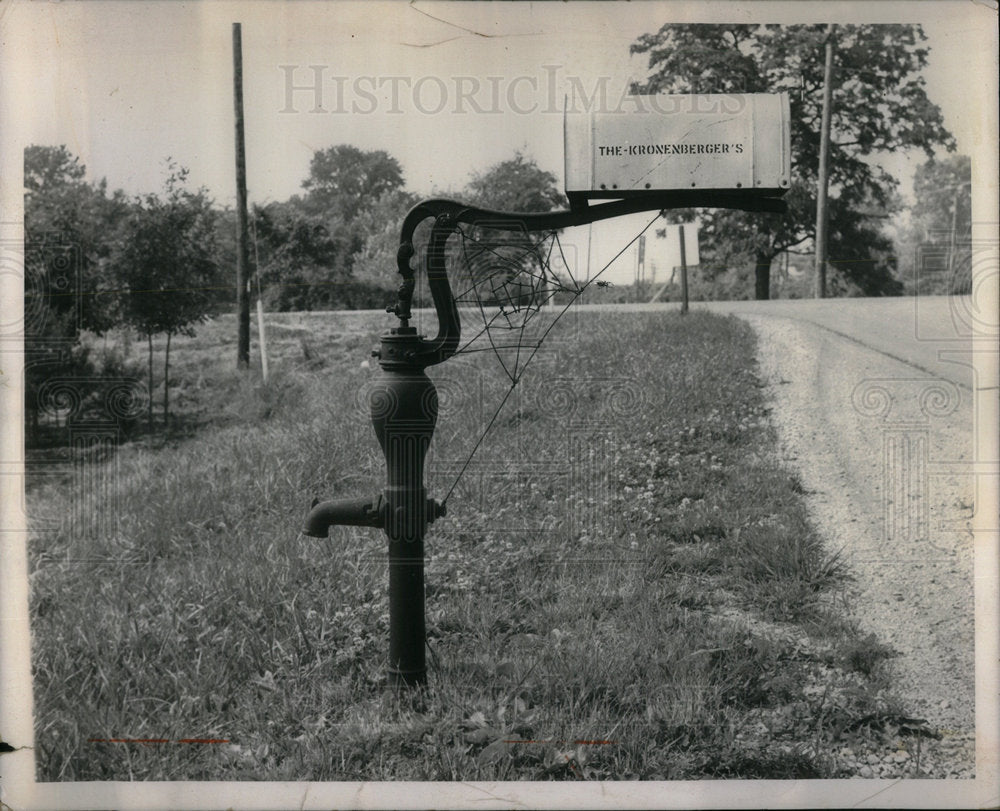
[[[81, 337], [125, 330], [146, 343], [154, 388], [155, 336], [165, 336], [163, 420], [169, 420], [170, 347], [235, 300], [236, 214], [191, 189], [167, 160], [158, 193], [128, 196], [65, 146], [24, 155], [25, 356], [29, 440], [46, 380], [123, 376], [124, 359], [90, 357]], [[474, 175], [454, 196], [512, 210], [564, 205], [554, 175], [520, 153]], [[269, 311], [382, 307], [398, 285], [399, 225], [418, 202], [391, 155], [340, 144], [318, 150], [302, 193], [251, 212], [251, 280]], [[96, 365], [95, 365], [96, 364]], [[147, 403], [153, 421], [153, 403]]]

